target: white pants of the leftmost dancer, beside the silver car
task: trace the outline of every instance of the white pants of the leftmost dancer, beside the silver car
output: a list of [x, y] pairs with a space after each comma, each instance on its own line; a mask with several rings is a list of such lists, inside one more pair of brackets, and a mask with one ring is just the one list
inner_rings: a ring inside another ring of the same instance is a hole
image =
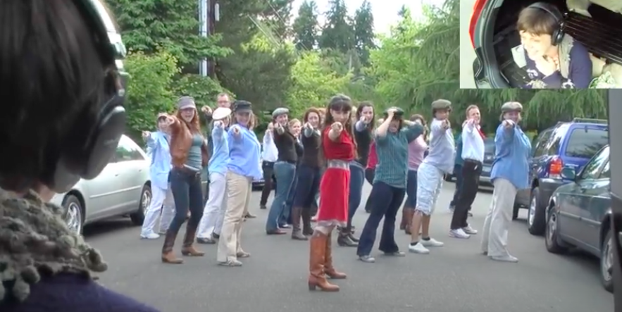
[[173, 201], [173, 192], [170, 192], [170, 185], [168, 189], [151, 185], [151, 203], [145, 212], [140, 235], [149, 235], [149, 233], [154, 232], [158, 216], [160, 217], [160, 230], [158, 232], [166, 232], [170, 221], [175, 216], [175, 201]]

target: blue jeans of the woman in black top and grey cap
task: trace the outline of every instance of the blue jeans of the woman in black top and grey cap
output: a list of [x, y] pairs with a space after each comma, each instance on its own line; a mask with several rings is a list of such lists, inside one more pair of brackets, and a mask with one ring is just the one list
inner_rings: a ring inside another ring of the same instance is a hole
[[[274, 176], [278, 185], [274, 192], [274, 199], [266, 220], [266, 231], [278, 229], [278, 221], [285, 210], [285, 203], [290, 198], [292, 185], [296, 178], [296, 165], [285, 161], [277, 161], [274, 164]], [[289, 213], [288, 213], [289, 214]]]

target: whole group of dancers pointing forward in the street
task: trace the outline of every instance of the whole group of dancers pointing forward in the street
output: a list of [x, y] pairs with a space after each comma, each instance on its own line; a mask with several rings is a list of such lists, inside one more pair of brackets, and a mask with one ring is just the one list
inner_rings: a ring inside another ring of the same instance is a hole
[[[195, 241], [218, 244], [220, 265], [242, 266], [240, 260], [251, 256], [242, 249], [242, 225], [252, 217], [252, 182], [262, 178], [260, 208], [268, 208], [268, 195], [275, 189], [266, 234], [284, 235], [291, 227], [292, 239], [309, 241], [309, 289], [338, 291], [329, 279], [346, 278], [332, 263], [335, 230], [337, 244], [355, 247], [360, 261], [374, 263], [372, 249], [382, 221], [380, 251], [406, 256], [394, 239], [402, 206], [399, 228], [411, 235], [408, 251], [429, 254], [430, 249], [442, 247], [443, 242], [430, 237], [430, 222], [443, 177], [454, 168], [461, 170], [462, 181], [456, 186], [459, 192], [452, 204], [449, 236], [468, 239], [478, 233], [467, 220], [484, 158], [478, 106], [466, 109], [459, 137], [461, 166], [455, 166], [456, 142], [449, 122], [452, 104], [444, 99], [431, 104], [429, 127], [423, 114], [405, 118], [398, 107], [383, 111], [376, 122], [373, 104], [355, 106], [344, 95], [333, 96], [325, 108], [309, 108], [301, 120], [290, 118], [287, 108], [277, 108], [263, 144], [253, 131], [257, 122], [251, 103], [230, 101], [227, 94], [220, 94], [217, 103], [213, 110], [208, 106], [198, 110], [192, 98], [183, 96], [175, 115], [158, 115], [158, 131], [144, 133], [152, 158], [154, 199], [141, 237], [158, 238], [154, 227], [161, 215], [164, 263], [183, 262], [175, 256], [173, 245], [187, 221], [182, 255], [204, 256]], [[527, 183], [530, 141], [518, 125], [521, 104], [503, 104], [501, 111], [491, 173], [495, 191], [481, 251], [492, 260], [517, 262], [507, 251], [506, 239], [514, 197]], [[201, 133], [201, 120], [209, 128], [208, 135]], [[203, 168], [209, 173], [205, 204]], [[361, 205], [365, 180], [372, 185], [365, 204], [369, 216], [356, 237], [352, 219]]]

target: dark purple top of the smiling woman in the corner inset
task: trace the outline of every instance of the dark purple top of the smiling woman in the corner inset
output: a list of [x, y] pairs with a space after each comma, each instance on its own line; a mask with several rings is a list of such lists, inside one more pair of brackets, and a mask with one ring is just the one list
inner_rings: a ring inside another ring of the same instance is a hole
[[[587, 89], [592, 82], [592, 60], [590, 53], [583, 44], [578, 41], [573, 42], [570, 50], [570, 64], [568, 68], [568, 79], [564, 78], [559, 70], [545, 77], [540, 70], [535, 67], [535, 62], [529, 58], [527, 51], [525, 61], [527, 61], [527, 75], [529, 81], [542, 80], [547, 85], [547, 89]], [[531, 88], [526, 85], [526, 88]]]

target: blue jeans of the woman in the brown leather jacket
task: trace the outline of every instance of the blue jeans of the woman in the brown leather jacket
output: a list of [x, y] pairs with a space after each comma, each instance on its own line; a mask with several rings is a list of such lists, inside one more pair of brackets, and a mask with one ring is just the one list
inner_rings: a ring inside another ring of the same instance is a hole
[[173, 168], [170, 170], [170, 191], [175, 201], [175, 218], [170, 222], [169, 231], [178, 233], [186, 221], [188, 209], [190, 219], [187, 227], [196, 229], [203, 216], [203, 192], [201, 191], [200, 173]]

